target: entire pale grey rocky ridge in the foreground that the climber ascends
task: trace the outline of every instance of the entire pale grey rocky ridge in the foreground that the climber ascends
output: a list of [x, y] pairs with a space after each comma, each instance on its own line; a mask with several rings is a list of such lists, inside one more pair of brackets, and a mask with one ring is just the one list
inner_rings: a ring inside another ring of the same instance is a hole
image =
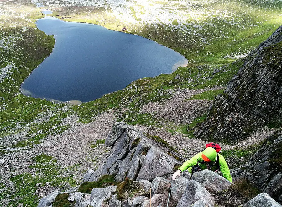
[[[50, 207], [58, 196], [66, 195], [69, 206], [76, 207], [149, 207], [150, 203], [152, 207], [162, 207], [166, 206], [170, 191], [170, 207], [212, 207], [216, 201], [211, 193], [231, 186], [225, 178], [209, 170], [195, 173], [192, 177], [188, 172], [183, 172], [175, 181], [171, 181], [175, 168], [185, 158], [163, 140], [145, 135], [123, 122], [113, 125], [105, 145], [111, 146], [107, 159], [97, 170], [89, 170], [83, 182], [99, 181], [104, 175], [112, 175], [117, 185], [93, 188], [91, 193], [79, 192], [78, 187], [66, 192], [57, 189], [43, 197], [38, 206]], [[132, 196], [119, 198], [120, 185], [129, 179], [138, 186], [137, 189], [142, 188], [141, 193], [135, 192]], [[280, 206], [266, 193], [259, 194], [257, 199], [261, 204]]]

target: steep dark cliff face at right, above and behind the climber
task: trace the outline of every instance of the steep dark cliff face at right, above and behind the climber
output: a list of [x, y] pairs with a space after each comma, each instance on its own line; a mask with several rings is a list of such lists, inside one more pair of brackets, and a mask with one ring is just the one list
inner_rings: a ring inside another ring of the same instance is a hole
[[234, 143], [268, 123], [282, 104], [282, 26], [245, 58], [209, 108], [198, 138]]

